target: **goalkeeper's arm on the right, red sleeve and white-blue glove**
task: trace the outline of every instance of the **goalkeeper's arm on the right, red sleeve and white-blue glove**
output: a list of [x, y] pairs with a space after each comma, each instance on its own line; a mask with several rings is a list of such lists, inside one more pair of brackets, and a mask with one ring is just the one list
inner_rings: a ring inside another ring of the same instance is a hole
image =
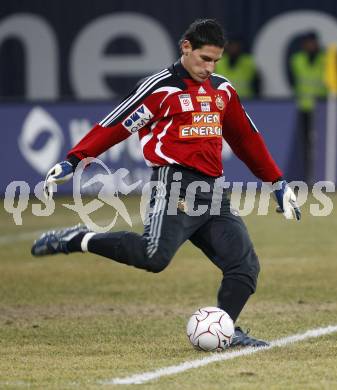
[[242, 107], [236, 91], [231, 88], [230, 92], [231, 98], [223, 120], [224, 139], [256, 177], [273, 183], [275, 199], [284, 216], [299, 220], [301, 212], [294, 192], [282, 179], [281, 170], [269, 153], [260, 132]]

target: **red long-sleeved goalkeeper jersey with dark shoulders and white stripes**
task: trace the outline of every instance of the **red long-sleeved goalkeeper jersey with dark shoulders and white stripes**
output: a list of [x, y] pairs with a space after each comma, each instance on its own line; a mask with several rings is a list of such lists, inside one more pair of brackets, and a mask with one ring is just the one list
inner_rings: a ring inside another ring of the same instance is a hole
[[151, 167], [180, 164], [220, 176], [224, 138], [258, 178], [282, 175], [229, 81], [212, 74], [196, 82], [180, 61], [141, 82], [68, 157], [97, 157], [133, 133]]

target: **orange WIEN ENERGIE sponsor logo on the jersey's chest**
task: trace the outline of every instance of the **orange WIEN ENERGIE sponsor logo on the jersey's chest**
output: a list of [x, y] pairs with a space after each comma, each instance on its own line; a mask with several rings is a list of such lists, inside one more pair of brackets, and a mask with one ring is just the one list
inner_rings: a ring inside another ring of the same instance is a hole
[[195, 112], [192, 124], [179, 126], [179, 138], [221, 137], [219, 112]]

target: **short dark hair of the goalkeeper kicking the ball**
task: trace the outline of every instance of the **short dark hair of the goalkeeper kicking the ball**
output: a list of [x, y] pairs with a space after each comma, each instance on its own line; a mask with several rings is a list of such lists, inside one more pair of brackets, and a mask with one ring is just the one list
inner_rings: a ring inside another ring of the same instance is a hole
[[190, 41], [192, 49], [200, 49], [204, 45], [224, 47], [227, 43], [221, 24], [215, 19], [197, 19], [184, 32], [179, 46], [184, 40]]

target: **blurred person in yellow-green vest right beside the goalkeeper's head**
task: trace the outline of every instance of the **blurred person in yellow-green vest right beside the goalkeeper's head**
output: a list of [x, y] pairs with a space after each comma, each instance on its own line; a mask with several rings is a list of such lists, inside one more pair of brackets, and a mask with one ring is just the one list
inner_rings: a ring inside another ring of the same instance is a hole
[[259, 96], [261, 80], [254, 59], [244, 51], [240, 37], [229, 40], [222, 58], [216, 64], [215, 72], [228, 78], [241, 98]]

